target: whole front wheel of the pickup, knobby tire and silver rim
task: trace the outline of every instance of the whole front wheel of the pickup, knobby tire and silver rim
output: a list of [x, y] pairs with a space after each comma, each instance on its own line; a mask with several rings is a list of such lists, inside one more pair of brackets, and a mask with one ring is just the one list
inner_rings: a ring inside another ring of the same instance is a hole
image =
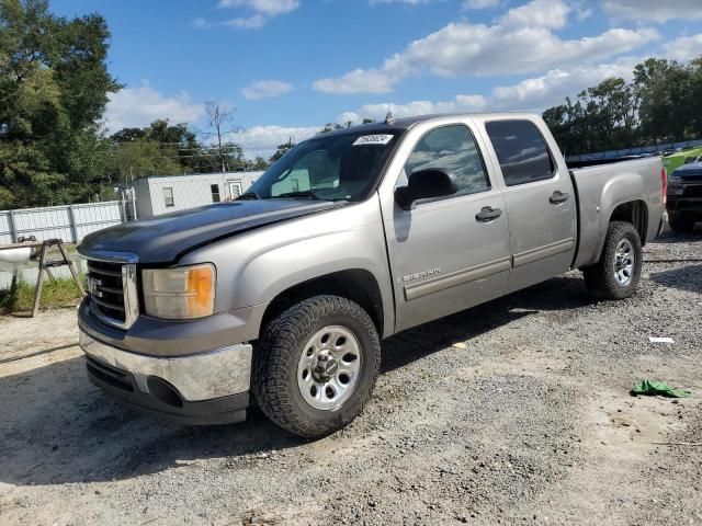
[[253, 393], [281, 427], [325, 436], [363, 410], [380, 364], [380, 339], [369, 315], [346, 298], [317, 296], [264, 328], [256, 345]]

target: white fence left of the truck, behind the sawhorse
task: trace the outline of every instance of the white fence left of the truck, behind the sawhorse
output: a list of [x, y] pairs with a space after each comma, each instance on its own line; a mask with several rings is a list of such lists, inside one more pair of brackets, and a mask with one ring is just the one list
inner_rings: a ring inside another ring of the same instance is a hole
[[91, 232], [121, 222], [118, 201], [0, 210], [0, 244], [14, 243], [22, 236], [34, 236], [37, 241], [58, 238], [66, 243], [78, 243]]

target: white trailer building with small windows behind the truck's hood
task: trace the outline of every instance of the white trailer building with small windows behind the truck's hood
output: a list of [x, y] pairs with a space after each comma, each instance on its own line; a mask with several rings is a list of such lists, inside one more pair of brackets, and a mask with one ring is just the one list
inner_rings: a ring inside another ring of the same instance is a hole
[[136, 213], [146, 219], [174, 210], [236, 199], [263, 172], [155, 175], [134, 182]]

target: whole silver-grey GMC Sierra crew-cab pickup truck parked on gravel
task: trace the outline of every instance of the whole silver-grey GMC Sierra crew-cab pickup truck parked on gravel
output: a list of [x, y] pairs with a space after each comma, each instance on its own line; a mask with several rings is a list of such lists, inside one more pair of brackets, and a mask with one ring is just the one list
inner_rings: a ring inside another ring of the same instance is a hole
[[658, 158], [569, 171], [531, 114], [320, 135], [236, 202], [86, 237], [89, 378], [183, 423], [256, 403], [322, 436], [370, 399], [382, 339], [571, 268], [631, 296], [665, 190]]

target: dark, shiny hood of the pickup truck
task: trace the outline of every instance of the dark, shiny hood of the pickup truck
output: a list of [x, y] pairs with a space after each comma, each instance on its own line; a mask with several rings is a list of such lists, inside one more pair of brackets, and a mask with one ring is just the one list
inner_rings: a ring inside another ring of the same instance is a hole
[[263, 199], [222, 203], [125, 222], [86, 236], [78, 252], [104, 258], [131, 253], [139, 263], [171, 263], [185, 252], [253, 228], [343, 206], [342, 203]]

